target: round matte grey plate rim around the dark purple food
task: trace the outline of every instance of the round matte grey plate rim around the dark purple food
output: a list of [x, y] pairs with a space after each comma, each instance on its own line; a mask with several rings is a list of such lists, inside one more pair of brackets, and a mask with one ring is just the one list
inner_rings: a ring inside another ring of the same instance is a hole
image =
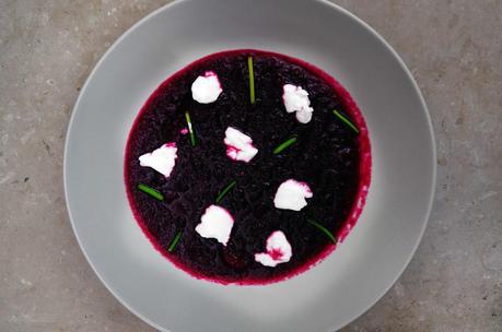
[[[142, 235], [122, 182], [126, 138], [139, 108], [171, 73], [205, 55], [273, 50], [340, 81], [370, 130], [366, 208], [325, 261], [268, 286], [222, 286], [175, 269]], [[332, 332], [370, 308], [410, 261], [425, 228], [435, 147], [420, 91], [365, 23], [320, 0], [186, 0], [129, 29], [90, 75], [65, 154], [71, 223], [90, 264], [132, 312], [163, 331]]]

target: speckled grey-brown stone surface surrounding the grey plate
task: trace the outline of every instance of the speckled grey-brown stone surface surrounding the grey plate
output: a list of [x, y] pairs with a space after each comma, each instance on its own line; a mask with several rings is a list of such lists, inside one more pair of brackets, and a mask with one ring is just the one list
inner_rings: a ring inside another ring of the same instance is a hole
[[[502, 331], [502, 1], [336, 1], [378, 31], [429, 104], [439, 179], [406, 272], [343, 331]], [[153, 331], [72, 234], [62, 151], [112, 43], [156, 0], [0, 0], [0, 331]]]

